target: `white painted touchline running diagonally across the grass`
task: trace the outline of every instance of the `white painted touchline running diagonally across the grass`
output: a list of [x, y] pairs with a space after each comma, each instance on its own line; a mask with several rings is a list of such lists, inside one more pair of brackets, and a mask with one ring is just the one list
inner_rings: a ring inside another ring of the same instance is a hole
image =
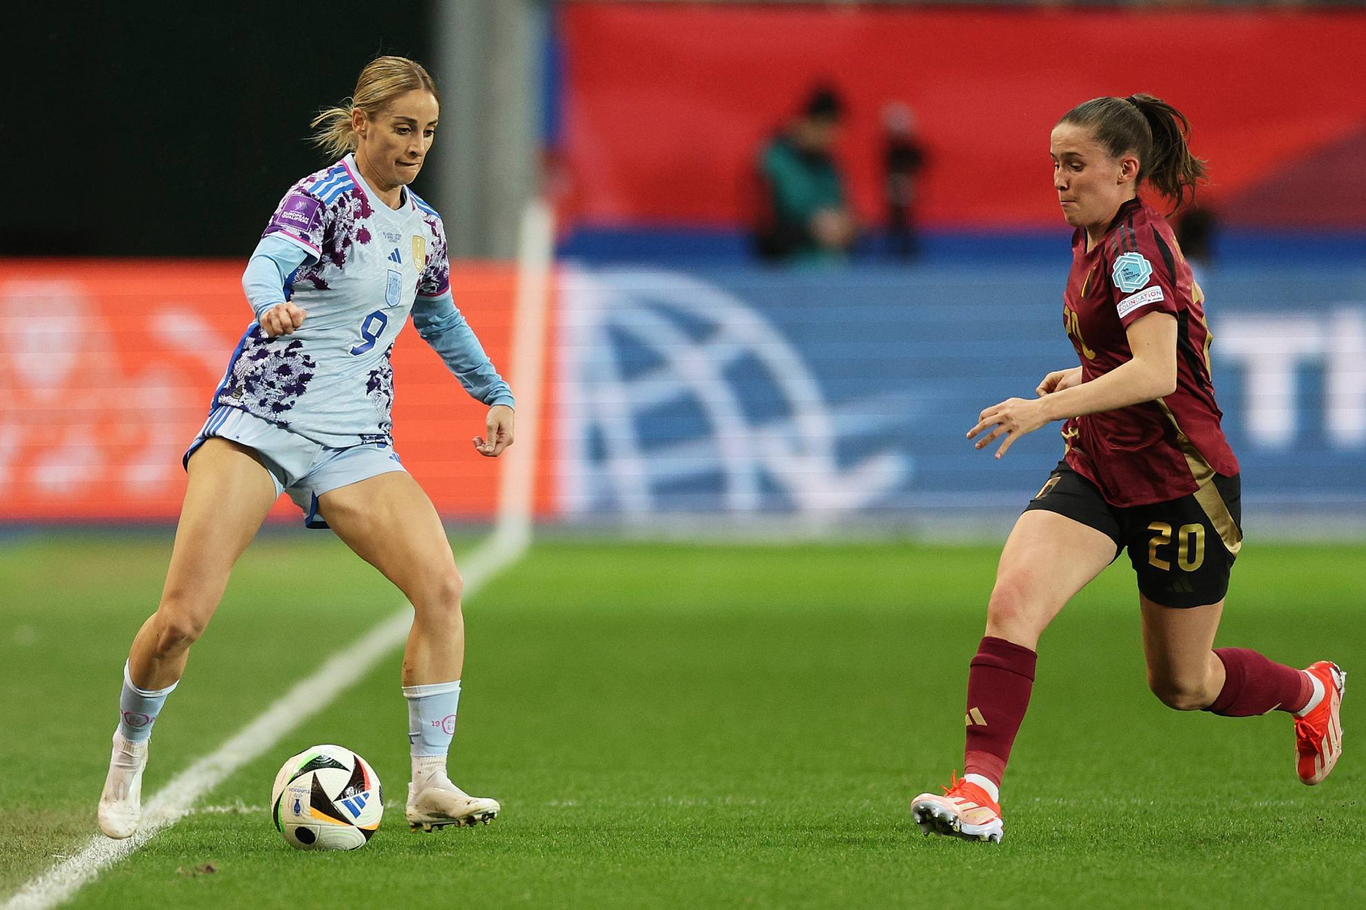
[[[526, 551], [526, 539], [490, 536], [470, 554], [469, 559], [462, 561], [464, 596], [469, 598], [485, 581], [516, 562]], [[81, 853], [30, 880], [10, 898], [3, 910], [48, 910], [70, 899], [82, 885], [100, 875], [101, 869], [123, 860], [158, 831], [187, 816], [195, 801], [223, 783], [229, 774], [264, 754], [280, 742], [284, 734], [331, 704], [369, 673], [381, 658], [403, 644], [411, 625], [411, 608], [400, 610], [361, 636], [350, 648], [335, 654], [311, 677], [290, 689], [240, 733], [178, 774], [148, 799], [142, 808], [142, 824], [137, 834], [126, 840], [111, 840], [102, 834], [94, 835]], [[395, 701], [395, 711], [400, 707]]]

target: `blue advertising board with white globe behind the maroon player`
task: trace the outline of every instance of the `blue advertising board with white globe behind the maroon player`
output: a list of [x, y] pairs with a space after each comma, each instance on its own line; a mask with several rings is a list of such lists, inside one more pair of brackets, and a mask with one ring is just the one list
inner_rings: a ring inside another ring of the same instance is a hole
[[[978, 412], [1076, 366], [1056, 267], [570, 267], [564, 514], [923, 524], [1018, 512], [1055, 424], [1005, 458]], [[1251, 508], [1366, 510], [1366, 273], [1203, 276], [1224, 430]], [[994, 446], [993, 446], [994, 447]]]

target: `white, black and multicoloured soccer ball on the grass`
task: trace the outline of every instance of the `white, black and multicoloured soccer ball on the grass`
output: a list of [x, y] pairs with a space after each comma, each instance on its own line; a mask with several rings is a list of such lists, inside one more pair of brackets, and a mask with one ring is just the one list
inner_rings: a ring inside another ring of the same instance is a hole
[[384, 789], [365, 759], [342, 746], [313, 746], [275, 775], [270, 817], [299, 850], [355, 850], [380, 828]]

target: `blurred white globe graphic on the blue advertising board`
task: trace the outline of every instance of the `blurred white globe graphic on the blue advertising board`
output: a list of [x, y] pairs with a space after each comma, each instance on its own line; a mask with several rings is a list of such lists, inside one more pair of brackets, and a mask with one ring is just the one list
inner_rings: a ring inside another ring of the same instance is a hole
[[799, 352], [735, 295], [642, 269], [570, 270], [561, 287], [571, 516], [836, 520], [908, 478], [904, 453], [840, 463], [848, 427]]

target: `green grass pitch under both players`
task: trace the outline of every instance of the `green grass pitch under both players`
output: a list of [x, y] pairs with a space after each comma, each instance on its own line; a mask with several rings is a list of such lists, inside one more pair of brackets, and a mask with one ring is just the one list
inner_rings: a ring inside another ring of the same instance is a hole
[[[94, 831], [123, 658], [168, 555], [169, 532], [0, 543], [0, 900]], [[452, 776], [503, 801], [494, 824], [407, 830], [395, 654], [71, 906], [1361, 898], [1366, 692], [1348, 688], [1333, 776], [1305, 787], [1285, 715], [1177, 714], [1147, 693], [1126, 559], [1044, 636], [1005, 779], [1004, 843], [923, 838], [908, 799], [960, 765], [967, 660], [996, 557], [912, 544], [538, 543], [466, 608]], [[1363, 569], [1361, 547], [1251, 542], [1220, 644], [1300, 666], [1332, 658], [1366, 684]], [[331, 535], [258, 539], [157, 724], [145, 794], [399, 602]], [[277, 765], [317, 742], [361, 752], [385, 783], [384, 825], [358, 853], [294, 851], [269, 823]]]

